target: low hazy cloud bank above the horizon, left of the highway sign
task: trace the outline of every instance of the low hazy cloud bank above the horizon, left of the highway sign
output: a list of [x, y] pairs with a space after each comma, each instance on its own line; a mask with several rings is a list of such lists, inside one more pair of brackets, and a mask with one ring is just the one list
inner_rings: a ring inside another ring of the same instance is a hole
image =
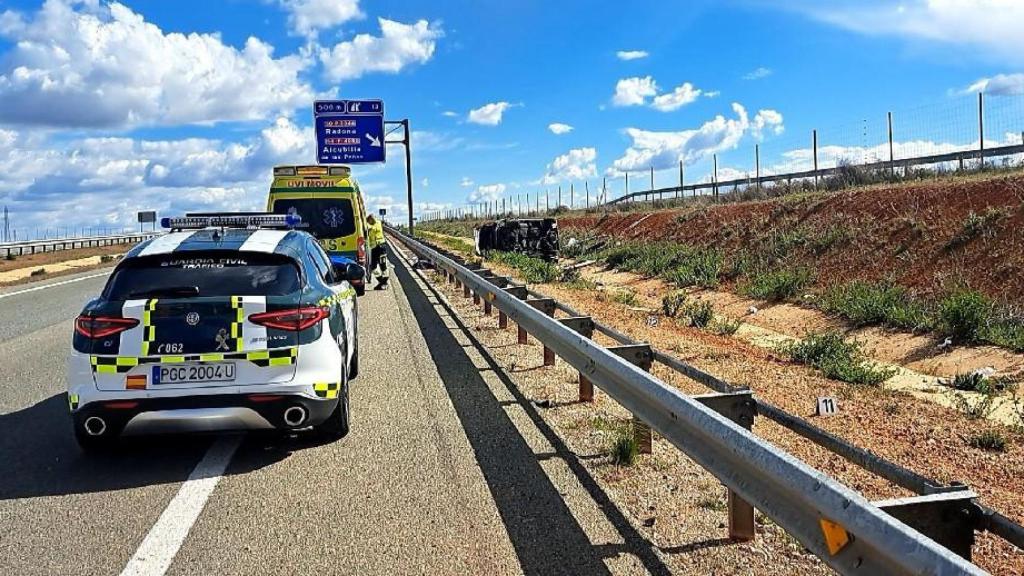
[[311, 129], [287, 118], [238, 142], [41, 134], [0, 131], [0, 196], [18, 227], [130, 225], [139, 209], [258, 210], [273, 165], [313, 158]]

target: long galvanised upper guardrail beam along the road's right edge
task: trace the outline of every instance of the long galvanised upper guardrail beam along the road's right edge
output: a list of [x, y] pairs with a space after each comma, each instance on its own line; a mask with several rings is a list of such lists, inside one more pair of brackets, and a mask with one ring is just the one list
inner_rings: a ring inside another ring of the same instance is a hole
[[[859, 493], [683, 395], [437, 250], [389, 229], [420, 258], [544, 343], [729, 490], [842, 574], [985, 574]], [[836, 525], [840, 534], [837, 546]], [[838, 549], [837, 549], [838, 547]]]

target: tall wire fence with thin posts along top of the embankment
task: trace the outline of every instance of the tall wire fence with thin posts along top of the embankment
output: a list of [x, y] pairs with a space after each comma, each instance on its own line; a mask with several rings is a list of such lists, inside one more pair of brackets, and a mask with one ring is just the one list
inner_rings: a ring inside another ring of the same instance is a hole
[[[958, 95], [938, 102], [812, 129], [764, 132], [751, 122], [748, 143], [716, 149], [687, 141], [677, 166], [650, 166], [595, 180], [489, 198], [427, 212], [425, 220], [548, 215], [630, 201], [714, 196], [781, 183], [816, 188], [851, 169], [899, 180], [932, 172], [1024, 166], [1024, 94]], [[696, 139], [696, 138], [694, 138]], [[753, 141], [751, 141], [753, 140]]]

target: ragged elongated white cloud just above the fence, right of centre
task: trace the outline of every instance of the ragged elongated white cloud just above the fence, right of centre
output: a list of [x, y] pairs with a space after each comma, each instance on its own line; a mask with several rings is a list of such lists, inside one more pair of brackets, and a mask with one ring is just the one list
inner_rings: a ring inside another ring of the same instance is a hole
[[[735, 118], [719, 115], [699, 128], [680, 132], [627, 128], [626, 133], [633, 139], [633, 143], [622, 158], [612, 163], [608, 174], [648, 170], [652, 166], [655, 170], [674, 168], [680, 161], [693, 164], [712, 154], [736, 148], [743, 135], [755, 128], [773, 132], [782, 129], [781, 115], [774, 111], [759, 112], [755, 115], [753, 126], [746, 109], [734, 102], [732, 111]], [[759, 117], [760, 121], [757, 120]]]

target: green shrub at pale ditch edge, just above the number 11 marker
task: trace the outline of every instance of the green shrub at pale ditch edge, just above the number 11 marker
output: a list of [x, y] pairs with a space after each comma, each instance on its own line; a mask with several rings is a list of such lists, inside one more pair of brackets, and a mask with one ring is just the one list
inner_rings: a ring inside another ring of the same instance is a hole
[[808, 333], [801, 341], [783, 344], [780, 352], [829, 378], [854, 384], [881, 384], [895, 373], [866, 363], [860, 344], [847, 341], [836, 330]]

